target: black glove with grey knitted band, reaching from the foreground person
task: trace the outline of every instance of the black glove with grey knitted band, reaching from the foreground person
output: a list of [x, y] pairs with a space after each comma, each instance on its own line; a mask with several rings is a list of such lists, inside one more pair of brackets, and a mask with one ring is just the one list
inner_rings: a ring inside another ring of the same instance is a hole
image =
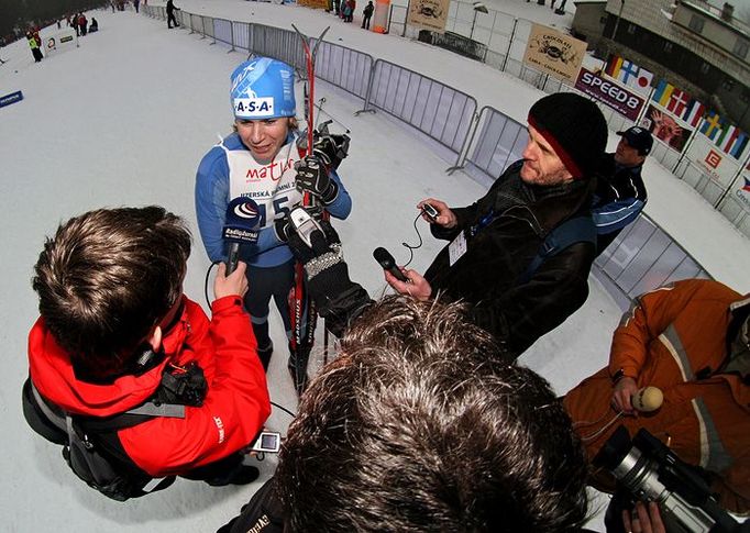
[[322, 232], [310, 235], [312, 247], [294, 231], [289, 235], [289, 248], [305, 267], [307, 289], [326, 319], [326, 327], [341, 336], [349, 323], [370, 307], [367, 291], [349, 279], [341, 240], [328, 221], [320, 222]]

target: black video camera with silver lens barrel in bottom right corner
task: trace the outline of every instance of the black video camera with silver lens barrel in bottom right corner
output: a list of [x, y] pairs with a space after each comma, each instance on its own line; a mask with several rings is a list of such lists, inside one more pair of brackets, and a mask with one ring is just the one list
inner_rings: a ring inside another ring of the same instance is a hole
[[620, 425], [594, 457], [638, 500], [654, 501], [670, 533], [750, 532], [750, 521], [737, 522], [721, 509], [703, 470], [677, 457], [641, 429], [630, 440]]

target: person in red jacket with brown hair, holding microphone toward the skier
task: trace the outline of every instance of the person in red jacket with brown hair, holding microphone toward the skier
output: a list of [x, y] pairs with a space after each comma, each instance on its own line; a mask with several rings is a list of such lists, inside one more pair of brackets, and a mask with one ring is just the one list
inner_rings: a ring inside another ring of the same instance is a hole
[[30, 425], [67, 445], [66, 421], [90, 427], [136, 408], [177, 408], [81, 436], [120, 480], [133, 481], [112, 496], [84, 478], [115, 499], [142, 496], [151, 478], [227, 485], [258, 475], [242, 449], [271, 406], [242, 307], [245, 266], [225, 276], [220, 265], [209, 321], [183, 295], [189, 254], [184, 221], [163, 208], [101, 209], [60, 225], [35, 266], [41, 318], [23, 392]]

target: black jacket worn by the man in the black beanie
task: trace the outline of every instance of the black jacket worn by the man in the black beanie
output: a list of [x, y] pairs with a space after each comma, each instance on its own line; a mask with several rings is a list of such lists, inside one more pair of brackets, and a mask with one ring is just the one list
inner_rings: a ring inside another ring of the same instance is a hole
[[[451, 267], [445, 246], [424, 275], [433, 293], [466, 301], [473, 322], [516, 356], [586, 301], [596, 255], [593, 243], [575, 243], [545, 259], [528, 281], [519, 280], [550, 231], [589, 213], [594, 187], [593, 180], [528, 186], [520, 178], [521, 166], [511, 165], [474, 204], [453, 209], [456, 227], [431, 226], [435, 237], [445, 240], [464, 231], [467, 251]], [[483, 219], [486, 225], [471, 236]]]

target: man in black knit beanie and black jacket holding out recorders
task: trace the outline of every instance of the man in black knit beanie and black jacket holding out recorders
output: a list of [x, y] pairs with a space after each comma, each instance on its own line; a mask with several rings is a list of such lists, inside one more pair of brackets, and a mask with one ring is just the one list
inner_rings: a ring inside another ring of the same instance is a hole
[[607, 145], [607, 123], [591, 100], [573, 93], [537, 101], [528, 116], [523, 159], [510, 165], [472, 206], [452, 209], [427, 198], [424, 219], [450, 241], [422, 277], [386, 271], [394, 289], [419, 300], [463, 300], [470, 318], [515, 356], [560, 325], [588, 297], [596, 256], [591, 218], [593, 176]]

